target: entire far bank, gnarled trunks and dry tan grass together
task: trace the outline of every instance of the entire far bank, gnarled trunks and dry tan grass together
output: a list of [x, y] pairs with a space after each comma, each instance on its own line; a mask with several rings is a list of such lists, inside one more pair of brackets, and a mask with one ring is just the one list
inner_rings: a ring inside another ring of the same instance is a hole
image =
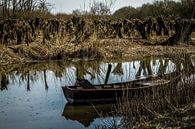
[[[0, 22], [1, 64], [67, 58], [140, 58], [194, 52], [193, 20], [162, 17], [115, 19], [66, 18], [6, 19]], [[185, 32], [188, 33], [182, 33]], [[13, 55], [13, 56], [12, 56]], [[13, 58], [13, 60], [12, 60]]]

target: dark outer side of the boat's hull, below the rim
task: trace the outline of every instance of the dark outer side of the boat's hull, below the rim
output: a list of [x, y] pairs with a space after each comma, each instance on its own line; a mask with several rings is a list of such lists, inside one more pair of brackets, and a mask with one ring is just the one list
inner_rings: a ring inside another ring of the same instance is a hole
[[[163, 85], [165, 88], [165, 85]], [[108, 89], [108, 90], [70, 90], [62, 87], [64, 95], [70, 104], [89, 104], [89, 103], [113, 103], [123, 101], [123, 98], [134, 99], [162, 93], [162, 87], [148, 87], [140, 89]]]

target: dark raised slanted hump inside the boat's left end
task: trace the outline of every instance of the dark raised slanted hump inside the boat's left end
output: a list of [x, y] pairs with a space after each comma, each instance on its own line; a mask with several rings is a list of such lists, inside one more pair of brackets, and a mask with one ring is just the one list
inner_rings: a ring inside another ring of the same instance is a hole
[[86, 79], [77, 78], [76, 85], [84, 89], [95, 89], [95, 87]]

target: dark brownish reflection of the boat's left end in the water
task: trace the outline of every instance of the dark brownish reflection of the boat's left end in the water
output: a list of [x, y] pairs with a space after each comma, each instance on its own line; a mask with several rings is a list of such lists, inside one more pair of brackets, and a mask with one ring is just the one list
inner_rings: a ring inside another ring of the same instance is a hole
[[114, 104], [101, 104], [101, 105], [70, 105], [66, 104], [64, 107], [63, 116], [67, 120], [76, 120], [89, 127], [96, 118], [104, 118], [112, 116]]

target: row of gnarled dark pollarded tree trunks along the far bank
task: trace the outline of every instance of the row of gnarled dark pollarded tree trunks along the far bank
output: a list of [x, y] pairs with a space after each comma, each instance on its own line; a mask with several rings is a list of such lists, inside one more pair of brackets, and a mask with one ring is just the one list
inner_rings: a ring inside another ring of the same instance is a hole
[[[37, 38], [50, 43], [58, 38], [61, 43], [81, 43], [90, 39], [139, 38], [147, 44], [174, 45], [189, 43], [195, 20], [156, 17], [139, 19], [113, 19], [111, 17], [86, 18], [71, 16], [67, 19], [0, 20], [0, 43], [29, 45]], [[152, 42], [152, 37], [164, 36], [166, 40]], [[75, 53], [76, 54], [76, 53]], [[74, 54], [74, 56], [75, 56]]]

